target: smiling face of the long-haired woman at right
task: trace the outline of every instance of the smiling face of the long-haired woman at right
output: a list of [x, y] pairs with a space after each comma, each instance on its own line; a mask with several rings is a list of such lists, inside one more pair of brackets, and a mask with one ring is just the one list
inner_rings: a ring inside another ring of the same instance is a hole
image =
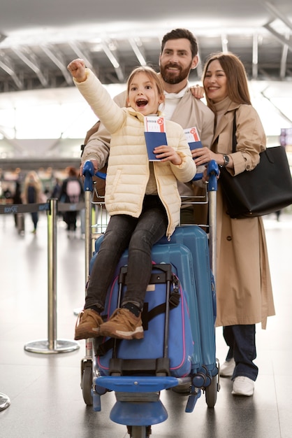
[[227, 78], [218, 59], [210, 62], [204, 78], [205, 93], [217, 103], [227, 97]]

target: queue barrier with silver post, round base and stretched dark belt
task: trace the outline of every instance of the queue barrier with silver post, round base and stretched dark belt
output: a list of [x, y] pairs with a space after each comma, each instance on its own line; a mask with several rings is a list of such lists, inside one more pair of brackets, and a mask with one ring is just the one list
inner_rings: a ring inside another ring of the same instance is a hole
[[57, 211], [77, 211], [84, 203], [59, 203], [48, 199], [44, 204], [0, 204], [0, 214], [33, 213], [47, 211], [48, 217], [48, 339], [31, 341], [24, 346], [30, 353], [67, 353], [80, 348], [68, 339], [57, 339]]

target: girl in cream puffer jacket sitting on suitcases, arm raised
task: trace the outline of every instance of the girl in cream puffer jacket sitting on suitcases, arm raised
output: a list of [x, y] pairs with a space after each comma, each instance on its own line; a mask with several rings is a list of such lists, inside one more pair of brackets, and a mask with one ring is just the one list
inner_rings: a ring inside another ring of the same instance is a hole
[[[119, 108], [82, 59], [68, 65], [75, 85], [112, 135], [105, 189], [110, 221], [87, 286], [85, 309], [75, 339], [108, 336], [142, 339], [141, 311], [152, 271], [151, 250], [180, 220], [177, 180], [191, 181], [196, 164], [180, 125], [166, 120], [168, 146], [154, 149], [149, 162], [144, 116], [159, 115], [164, 101], [159, 76], [149, 67], [135, 69], [127, 83], [127, 108]], [[89, 157], [90, 160], [90, 157]], [[117, 262], [129, 247], [127, 290], [122, 306], [103, 323], [100, 316]]]

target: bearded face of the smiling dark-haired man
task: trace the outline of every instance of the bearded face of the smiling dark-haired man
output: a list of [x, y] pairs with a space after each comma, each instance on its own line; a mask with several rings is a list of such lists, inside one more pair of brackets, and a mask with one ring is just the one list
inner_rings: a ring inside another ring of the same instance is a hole
[[191, 43], [187, 38], [166, 41], [159, 57], [160, 73], [164, 82], [177, 84], [187, 80], [191, 69], [196, 68], [198, 56], [191, 55]]

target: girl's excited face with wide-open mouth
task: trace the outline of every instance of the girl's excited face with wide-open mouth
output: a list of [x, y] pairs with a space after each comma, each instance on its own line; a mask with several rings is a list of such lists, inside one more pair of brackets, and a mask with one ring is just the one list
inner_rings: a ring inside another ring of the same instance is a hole
[[129, 83], [128, 105], [143, 115], [156, 114], [163, 101], [157, 85], [145, 71], [139, 71]]

